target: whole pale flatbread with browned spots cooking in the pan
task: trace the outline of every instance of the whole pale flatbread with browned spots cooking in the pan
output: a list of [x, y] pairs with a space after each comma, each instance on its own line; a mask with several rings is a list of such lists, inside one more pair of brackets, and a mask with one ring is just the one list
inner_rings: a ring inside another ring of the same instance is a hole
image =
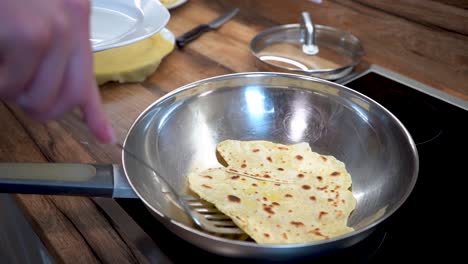
[[347, 220], [356, 200], [340, 161], [307, 143], [228, 140], [217, 149], [227, 167], [191, 173], [189, 186], [257, 243], [306, 243], [353, 231]]

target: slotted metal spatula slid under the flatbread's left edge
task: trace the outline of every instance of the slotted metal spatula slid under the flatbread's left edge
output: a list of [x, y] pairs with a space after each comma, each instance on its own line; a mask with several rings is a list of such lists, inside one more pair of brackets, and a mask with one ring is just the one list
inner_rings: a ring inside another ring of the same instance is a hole
[[172, 201], [183, 208], [187, 215], [190, 216], [193, 222], [200, 228], [217, 234], [244, 234], [244, 231], [238, 228], [229, 216], [220, 212], [213, 204], [190, 195], [178, 195], [172, 186], [160, 176], [156, 169], [144, 160], [138, 158], [131, 151], [125, 149], [121, 144], [117, 143], [116, 145], [143, 166], [152, 170], [156, 177], [159, 178], [160, 182], [165, 185], [164, 192], [171, 197]]

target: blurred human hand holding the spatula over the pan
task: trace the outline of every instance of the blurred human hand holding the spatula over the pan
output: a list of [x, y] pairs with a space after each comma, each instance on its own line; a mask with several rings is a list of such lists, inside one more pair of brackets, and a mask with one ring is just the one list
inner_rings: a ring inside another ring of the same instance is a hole
[[115, 139], [93, 76], [89, 0], [2, 0], [0, 99], [47, 121], [79, 107], [91, 132]]

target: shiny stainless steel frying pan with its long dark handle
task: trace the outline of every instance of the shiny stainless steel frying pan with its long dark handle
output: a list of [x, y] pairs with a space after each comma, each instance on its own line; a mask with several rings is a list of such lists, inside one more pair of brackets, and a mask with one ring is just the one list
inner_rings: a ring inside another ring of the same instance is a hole
[[401, 206], [418, 174], [415, 144], [389, 111], [344, 86], [292, 74], [240, 73], [186, 85], [148, 107], [131, 127], [124, 147], [184, 194], [187, 173], [217, 165], [215, 146], [225, 139], [305, 141], [314, 151], [342, 160], [358, 201], [349, 219], [355, 231], [293, 245], [258, 245], [202, 232], [171, 201], [155, 172], [125, 152], [121, 167], [2, 164], [0, 191], [136, 194], [161, 223], [200, 248], [231, 257], [286, 260], [361, 241]]

